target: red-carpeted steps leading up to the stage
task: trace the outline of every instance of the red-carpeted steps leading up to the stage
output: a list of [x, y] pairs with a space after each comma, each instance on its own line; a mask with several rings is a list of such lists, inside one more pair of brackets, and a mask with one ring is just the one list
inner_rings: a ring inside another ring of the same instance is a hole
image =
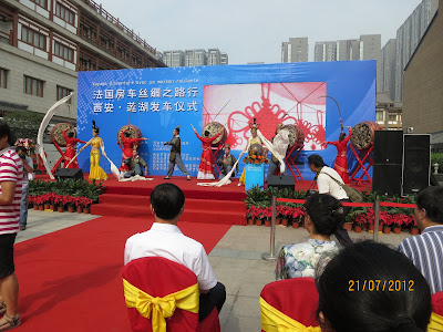
[[[91, 214], [100, 216], [152, 218], [150, 197], [142, 195], [104, 194], [100, 203], [91, 207]], [[185, 200], [181, 220], [205, 224], [246, 225], [244, 201], [195, 199]]]

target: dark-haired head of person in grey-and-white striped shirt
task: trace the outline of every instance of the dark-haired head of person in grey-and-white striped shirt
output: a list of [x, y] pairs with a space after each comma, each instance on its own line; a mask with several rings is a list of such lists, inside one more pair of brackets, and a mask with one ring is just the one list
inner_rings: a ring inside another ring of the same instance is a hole
[[421, 229], [432, 224], [443, 224], [443, 187], [427, 187], [421, 190], [415, 205], [415, 221]]

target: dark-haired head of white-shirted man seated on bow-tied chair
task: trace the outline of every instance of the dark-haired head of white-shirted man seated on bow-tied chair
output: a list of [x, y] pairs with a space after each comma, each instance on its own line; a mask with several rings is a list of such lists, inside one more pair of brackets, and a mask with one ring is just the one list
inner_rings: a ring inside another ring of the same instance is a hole
[[151, 209], [156, 219], [176, 221], [183, 214], [184, 206], [185, 195], [176, 185], [158, 185], [151, 194]]

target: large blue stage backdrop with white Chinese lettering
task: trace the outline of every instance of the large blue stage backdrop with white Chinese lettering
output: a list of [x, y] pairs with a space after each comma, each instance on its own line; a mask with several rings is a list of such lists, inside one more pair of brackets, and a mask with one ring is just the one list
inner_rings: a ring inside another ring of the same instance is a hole
[[[78, 131], [79, 138], [92, 137], [92, 120], [100, 127], [107, 156], [117, 167], [122, 151], [117, 132], [128, 123], [142, 129], [150, 138], [140, 153], [148, 164], [148, 174], [165, 175], [173, 129], [181, 125], [182, 157], [192, 176], [198, 172], [202, 144], [190, 127], [202, 132], [205, 85], [326, 82], [327, 95], [340, 104], [344, 126], [375, 118], [375, 61], [309, 62], [258, 65], [218, 65], [79, 72]], [[135, 107], [134, 107], [135, 105]], [[132, 111], [132, 112], [131, 112]], [[266, 126], [266, 123], [261, 125]], [[326, 100], [326, 141], [337, 141], [340, 133], [337, 105]], [[79, 156], [79, 165], [89, 173], [86, 149]], [[320, 154], [333, 165], [337, 149], [306, 151], [300, 154], [299, 169], [305, 179], [313, 175], [306, 165], [310, 154]], [[234, 151], [238, 156], [239, 151]], [[352, 156], [348, 151], [350, 164]], [[110, 163], [102, 157], [101, 166], [111, 173]], [[240, 170], [244, 163], [240, 163]], [[175, 170], [174, 175], [182, 175]]]

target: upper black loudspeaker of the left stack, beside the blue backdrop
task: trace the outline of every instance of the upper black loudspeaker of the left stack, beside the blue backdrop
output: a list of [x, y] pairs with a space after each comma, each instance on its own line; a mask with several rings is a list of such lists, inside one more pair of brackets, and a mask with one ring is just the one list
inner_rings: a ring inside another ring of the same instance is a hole
[[402, 131], [375, 131], [373, 163], [377, 165], [401, 164], [403, 156]]

